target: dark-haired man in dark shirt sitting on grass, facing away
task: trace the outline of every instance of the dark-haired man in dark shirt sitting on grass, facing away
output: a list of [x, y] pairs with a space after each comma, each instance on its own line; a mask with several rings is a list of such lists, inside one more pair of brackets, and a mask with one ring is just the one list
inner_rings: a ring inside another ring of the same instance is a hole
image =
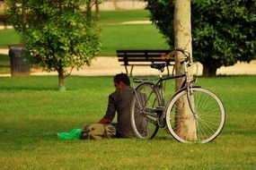
[[116, 128], [116, 137], [134, 137], [135, 134], [130, 123], [130, 106], [134, 89], [130, 87], [128, 75], [125, 73], [115, 75], [113, 81], [116, 90], [110, 94], [106, 115], [104, 115], [99, 123], [111, 123], [117, 112], [118, 123], [111, 123]]

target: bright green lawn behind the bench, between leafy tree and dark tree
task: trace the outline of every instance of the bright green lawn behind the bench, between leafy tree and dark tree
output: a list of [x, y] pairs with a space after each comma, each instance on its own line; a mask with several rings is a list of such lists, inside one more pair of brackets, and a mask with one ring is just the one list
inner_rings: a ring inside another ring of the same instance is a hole
[[116, 55], [117, 49], [169, 49], [152, 24], [102, 26], [101, 55]]

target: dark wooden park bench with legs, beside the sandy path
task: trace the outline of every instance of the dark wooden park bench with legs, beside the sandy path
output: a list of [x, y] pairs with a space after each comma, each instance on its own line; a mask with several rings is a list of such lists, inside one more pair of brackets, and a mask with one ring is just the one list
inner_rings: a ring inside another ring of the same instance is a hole
[[169, 66], [172, 66], [172, 74], [174, 73], [175, 59], [164, 57], [170, 53], [170, 50], [162, 49], [121, 49], [117, 50], [119, 62], [125, 66], [128, 74], [128, 66], [131, 66], [130, 76], [132, 76], [133, 67], [137, 66], [149, 66], [153, 63], [166, 63], [168, 75], [170, 75]]

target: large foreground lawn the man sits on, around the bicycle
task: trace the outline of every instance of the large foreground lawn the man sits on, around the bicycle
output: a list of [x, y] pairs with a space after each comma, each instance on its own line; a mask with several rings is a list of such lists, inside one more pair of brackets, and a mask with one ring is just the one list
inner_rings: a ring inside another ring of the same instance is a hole
[[[1, 169], [255, 169], [256, 76], [199, 78], [224, 102], [227, 119], [208, 144], [182, 144], [163, 130], [154, 140], [57, 140], [57, 132], [98, 122], [112, 77], [0, 77]], [[173, 82], [167, 88], [173, 90]]]

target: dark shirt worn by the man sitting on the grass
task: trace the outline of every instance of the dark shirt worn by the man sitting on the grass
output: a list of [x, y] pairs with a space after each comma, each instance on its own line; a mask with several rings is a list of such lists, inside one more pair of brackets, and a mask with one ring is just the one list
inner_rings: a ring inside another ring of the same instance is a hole
[[130, 125], [130, 107], [133, 97], [131, 87], [127, 86], [123, 89], [117, 89], [109, 96], [109, 104], [105, 118], [113, 120], [116, 112], [118, 113], [117, 132], [123, 138], [134, 137], [134, 132]]

